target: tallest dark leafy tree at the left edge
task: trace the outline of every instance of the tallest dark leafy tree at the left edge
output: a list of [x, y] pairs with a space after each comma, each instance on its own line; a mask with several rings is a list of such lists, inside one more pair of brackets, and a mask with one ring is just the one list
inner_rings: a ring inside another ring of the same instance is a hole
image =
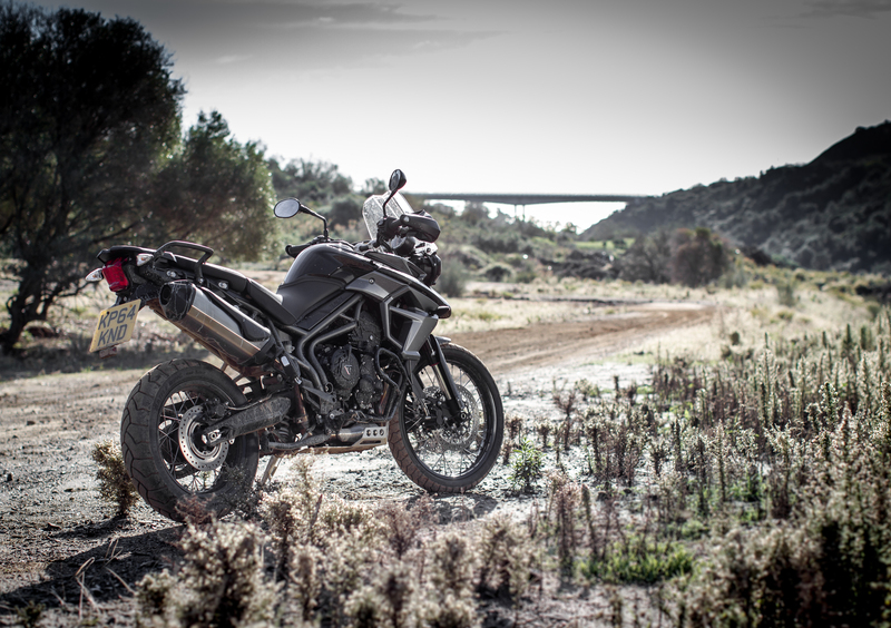
[[151, 173], [179, 137], [170, 57], [131, 19], [0, 7], [0, 237], [25, 326], [76, 294], [105, 243], [140, 225]]

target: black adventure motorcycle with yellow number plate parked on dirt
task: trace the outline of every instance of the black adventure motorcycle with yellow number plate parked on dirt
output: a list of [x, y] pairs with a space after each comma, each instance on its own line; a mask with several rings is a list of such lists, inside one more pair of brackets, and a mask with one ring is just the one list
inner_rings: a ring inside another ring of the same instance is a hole
[[223, 517], [263, 458], [265, 483], [285, 455], [384, 443], [427, 491], [486, 478], [503, 438], [501, 398], [477, 356], [433, 335], [451, 314], [432, 287], [440, 227], [410, 207], [404, 185], [395, 170], [389, 194], [365, 200], [361, 243], [330, 237], [324, 216], [297, 199], [277, 203], [277, 217], [306, 214], [323, 233], [285, 247], [294, 261], [276, 293], [207, 263], [213, 249], [192, 242], [99, 253], [87, 279], [107, 281], [117, 301], [100, 313], [91, 352], [116, 352], [148, 306], [223, 363], [159, 364], [127, 399], [124, 461], [157, 512], [182, 520], [184, 502], [198, 500]]

